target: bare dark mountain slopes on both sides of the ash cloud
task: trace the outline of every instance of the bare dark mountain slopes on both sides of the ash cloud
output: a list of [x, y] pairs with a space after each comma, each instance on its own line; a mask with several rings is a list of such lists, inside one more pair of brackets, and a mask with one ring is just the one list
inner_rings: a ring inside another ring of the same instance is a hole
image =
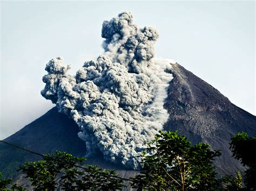
[[[241, 171], [241, 164], [231, 157], [228, 143], [235, 133], [241, 131], [255, 137], [256, 117], [232, 104], [217, 89], [177, 63], [171, 72], [174, 79], [170, 82], [169, 96], [164, 105], [170, 117], [164, 129], [178, 130], [193, 143], [205, 142], [213, 149], [222, 150], [222, 156], [215, 161], [220, 174]], [[75, 122], [52, 108], [5, 141], [41, 154], [60, 150], [82, 156], [85, 155], [86, 147], [77, 133]], [[40, 157], [0, 143], [0, 159], [0, 172], [5, 176], [16, 176], [15, 171], [20, 164]], [[124, 177], [137, 173], [104, 161], [102, 155], [90, 158], [87, 162], [117, 169]]]

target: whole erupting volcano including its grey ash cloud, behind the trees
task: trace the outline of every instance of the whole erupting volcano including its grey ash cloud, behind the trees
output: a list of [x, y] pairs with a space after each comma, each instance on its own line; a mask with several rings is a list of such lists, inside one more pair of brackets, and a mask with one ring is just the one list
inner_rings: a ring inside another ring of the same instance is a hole
[[[104, 53], [86, 61], [76, 75], [61, 57], [46, 63], [41, 95], [56, 104], [42, 117], [5, 139], [45, 154], [56, 150], [86, 156], [88, 164], [138, 174], [146, 143], [159, 130], [178, 131], [193, 144], [220, 149], [219, 175], [244, 168], [232, 158], [230, 138], [237, 132], [256, 136], [256, 117], [170, 59], [154, 58], [159, 32], [139, 27], [130, 12], [102, 25]], [[14, 175], [32, 153], [0, 144], [0, 171]], [[17, 179], [22, 180], [22, 179]]]

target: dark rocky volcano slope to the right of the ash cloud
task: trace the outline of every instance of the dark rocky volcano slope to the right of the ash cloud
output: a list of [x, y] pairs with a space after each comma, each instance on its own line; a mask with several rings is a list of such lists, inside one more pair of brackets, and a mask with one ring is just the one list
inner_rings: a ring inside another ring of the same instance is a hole
[[232, 104], [227, 97], [178, 63], [165, 103], [170, 117], [165, 130], [187, 136], [193, 143], [204, 142], [221, 150], [215, 161], [220, 174], [241, 171], [229, 149], [231, 137], [238, 132], [256, 136], [256, 117]]

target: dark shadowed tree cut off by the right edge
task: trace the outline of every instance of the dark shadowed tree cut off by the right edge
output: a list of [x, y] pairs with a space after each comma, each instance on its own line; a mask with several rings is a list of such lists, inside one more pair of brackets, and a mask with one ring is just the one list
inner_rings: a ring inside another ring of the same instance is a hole
[[245, 171], [245, 185], [256, 190], [256, 138], [248, 137], [245, 132], [237, 133], [231, 138], [230, 148], [233, 157], [248, 167]]

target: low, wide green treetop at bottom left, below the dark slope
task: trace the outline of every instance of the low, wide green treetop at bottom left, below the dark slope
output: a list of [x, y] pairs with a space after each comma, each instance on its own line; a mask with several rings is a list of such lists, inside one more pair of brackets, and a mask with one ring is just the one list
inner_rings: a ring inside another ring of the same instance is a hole
[[43, 160], [25, 162], [21, 170], [35, 190], [112, 190], [124, 186], [124, 179], [116, 176], [116, 172], [95, 165], [81, 167], [84, 161], [83, 157], [56, 151], [45, 154]]

